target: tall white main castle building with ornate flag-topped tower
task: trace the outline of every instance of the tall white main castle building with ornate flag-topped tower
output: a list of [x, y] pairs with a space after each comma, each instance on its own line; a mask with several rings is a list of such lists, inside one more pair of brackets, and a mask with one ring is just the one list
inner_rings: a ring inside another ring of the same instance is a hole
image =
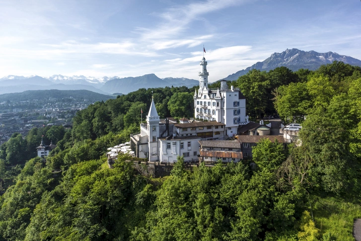
[[199, 89], [194, 93], [194, 117], [197, 119], [221, 122], [225, 124], [225, 135], [237, 134], [239, 125], [248, 123], [246, 116], [246, 99], [237, 89], [228, 89], [225, 80], [221, 80], [220, 89], [208, 88], [207, 61], [203, 57], [200, 62]]

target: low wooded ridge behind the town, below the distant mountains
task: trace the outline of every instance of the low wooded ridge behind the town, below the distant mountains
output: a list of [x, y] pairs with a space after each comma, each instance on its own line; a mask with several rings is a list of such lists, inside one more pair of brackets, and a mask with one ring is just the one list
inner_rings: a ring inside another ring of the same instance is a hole
[[21, 93], [0, 94], [0, 102], [3, 101], [27, 101], [34, 99], [63, 99], [72, 97], [74, 99], [89, 99], [91, 101], [105, 101], [114, 98], [110, 95], [99, 94], [89, 90], [27, 90]]

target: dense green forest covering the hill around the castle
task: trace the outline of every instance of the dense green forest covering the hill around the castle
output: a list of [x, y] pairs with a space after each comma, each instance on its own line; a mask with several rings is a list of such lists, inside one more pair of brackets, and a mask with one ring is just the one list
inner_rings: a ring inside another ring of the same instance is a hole
[[[151, 96], [161, 117], [192, 117], [197, 86], [141, 88], [96, 102], [76, 113], [72, 129], [34, 128], [0, 146], [0, 240], [354, 240], [361, 68], [252, 70], [228, 84], [245, 95], [251, 118], [301, 122], [301, 145], [261, 141], [255, 169], [247, 160], [190, 171], [179, 157], [170, 176], [145, 177], [127, 156], [109, 169], [106, 148], [139, 132]], [[43, 135], [57, 145], [46, 161], [35, 153]]]

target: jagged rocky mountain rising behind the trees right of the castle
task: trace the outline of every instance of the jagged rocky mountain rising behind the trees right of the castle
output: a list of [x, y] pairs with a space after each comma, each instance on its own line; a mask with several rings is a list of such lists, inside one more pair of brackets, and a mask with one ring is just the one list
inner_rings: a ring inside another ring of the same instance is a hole
[[292, 71], [299, 69], [316, 70], [321, 65], [331, 64], [334, 61], [361, 66], [361, 60], [333, 52], [318, 53], [316, 51], [306, 52], [298, 49], [286, 49], [282, 53], [274, 53], [263, 62], [257, 62], [245, 70], [238, 71], [222, 80], [237, 80], [238, 77], [247, 74], [250, 70], [270, 71], [281, 66], [285, 66]]

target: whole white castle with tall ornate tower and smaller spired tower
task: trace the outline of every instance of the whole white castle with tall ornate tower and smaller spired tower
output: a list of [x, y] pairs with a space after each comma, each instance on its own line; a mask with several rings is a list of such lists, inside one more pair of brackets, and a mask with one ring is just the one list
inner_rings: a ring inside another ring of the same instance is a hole
[[[228, 89], [226, 80], [220, 81], [220, 89], [208, 87], [207, 61], [200, 62], [199, 89], [194, 93], [194, 117], [183, 118], [178, 123], [173, 118], [160, 119], [152, 99], [146, 124], [141, 132], [131, 135], [131, 149], [136, 157], [148, 161], [174, 162], [183, 156], [186, 162], [198, 162], [199, 141], [220, 141], [233, 138], [240, 125], [247, 124], [246, 99], [233, 86]], [[224, 158], [224, 161], [240, 158]]]

